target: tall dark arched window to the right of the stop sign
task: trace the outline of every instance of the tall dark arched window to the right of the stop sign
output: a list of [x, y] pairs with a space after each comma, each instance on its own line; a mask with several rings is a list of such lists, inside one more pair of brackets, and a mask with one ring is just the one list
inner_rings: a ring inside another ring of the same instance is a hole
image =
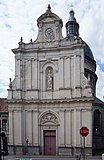
[[99, 110], [94, 111], [94, 133], [101, 132], [101, 113]]

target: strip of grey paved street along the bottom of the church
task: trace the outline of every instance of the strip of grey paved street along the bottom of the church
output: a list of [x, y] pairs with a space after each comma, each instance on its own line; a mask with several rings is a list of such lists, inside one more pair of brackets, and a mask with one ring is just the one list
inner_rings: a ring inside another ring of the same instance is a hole
[[[101, 160], [101, 156], [86, 156], [85, 160]], [[76, 156], [7, 156], [4, 160], [83, 160]]]

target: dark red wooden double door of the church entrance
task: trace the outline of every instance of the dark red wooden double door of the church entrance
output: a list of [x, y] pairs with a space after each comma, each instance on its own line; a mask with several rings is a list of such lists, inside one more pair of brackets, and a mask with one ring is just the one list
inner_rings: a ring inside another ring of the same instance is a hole
[[56, 131], [44, 131], [44, 155], [56, 155]]

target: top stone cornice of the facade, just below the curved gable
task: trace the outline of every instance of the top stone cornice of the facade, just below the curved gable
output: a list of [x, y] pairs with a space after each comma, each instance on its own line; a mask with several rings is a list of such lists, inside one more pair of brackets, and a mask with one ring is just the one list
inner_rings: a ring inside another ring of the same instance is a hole
[[[20, 52], [43, 52], [43, 51], [57, 51], [57, 50], [73, 50], [73, 49], [78, 49], [82, 48], [83, 44], [82, 43], [77, 43], [77, 39], [69, 41], [66, 38], [63, 38], [61, 41], [53, 41], [51, 42], [51, 45], [47, 47], [46, 44], [49, 44], [49, 42], [40, 42], [40, 43], [21, 43], [22, 47], [14, 48], [12, 49], [12, 52], [15, 53], [20, 53]], [[56, 46], [56, 42], [58, 42], [58, 45]], [[60, 44], [60, 45], [59, 45]], [[43, 47], [44, 46], [44, 47]], [[46, 46], [46, 47], [45, 47]]]

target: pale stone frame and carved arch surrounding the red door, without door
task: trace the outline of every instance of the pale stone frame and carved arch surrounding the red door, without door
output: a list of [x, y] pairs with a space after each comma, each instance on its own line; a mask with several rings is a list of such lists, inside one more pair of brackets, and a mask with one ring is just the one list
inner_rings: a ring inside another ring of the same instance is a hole
[[60, 125], [60, 120], [59, 120], [59, 115], [56, 112], [53, 112], [51, 110], [45, 111], [43, 113], [40, 114], [40, 118], [39, 118], [39, 143], [40, 143], [40, 150], [41, 150], [41, 154], [44, 155], [44, 131], [48, 130], [48, 131], [55, 131], [56, 132], [56, 155], [58, 155], [58, 130], [59, 130], [59, 125]]

